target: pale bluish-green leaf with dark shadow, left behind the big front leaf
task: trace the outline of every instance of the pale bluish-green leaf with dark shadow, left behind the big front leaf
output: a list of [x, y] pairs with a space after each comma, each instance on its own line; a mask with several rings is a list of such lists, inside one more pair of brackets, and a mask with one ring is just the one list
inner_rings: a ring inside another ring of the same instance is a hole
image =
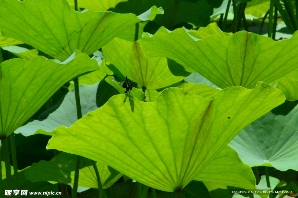
[[[80, 101], [82, 115], [101, 107], [108, 99], [115, 95], [124, 93], [119, 82], [112, 81], [113, 77], [108, 77], [94, 85], [80, 85]], [[131, 91], [132, 95], [143, 101], [144, 93], [136, 88]], [[38, 116], [37, 120], [29, 119], [23, 126], [15, 130], [15, 133], [22, 133], [24, 136], [33, 134], [53, 135], [55, 128], [60, 126], [70, 127], [77, 121], [77, 107], [75, 101], [75, 90], [68, 92], [58, 104], [49, 108]]]

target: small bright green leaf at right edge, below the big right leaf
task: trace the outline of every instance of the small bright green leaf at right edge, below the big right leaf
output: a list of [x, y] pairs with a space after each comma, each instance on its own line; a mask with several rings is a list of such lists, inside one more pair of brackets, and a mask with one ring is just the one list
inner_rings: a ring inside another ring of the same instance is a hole
[[276, 88], [283, 91], [288, 101], [298, 100], [298, 81], [280, 80]]

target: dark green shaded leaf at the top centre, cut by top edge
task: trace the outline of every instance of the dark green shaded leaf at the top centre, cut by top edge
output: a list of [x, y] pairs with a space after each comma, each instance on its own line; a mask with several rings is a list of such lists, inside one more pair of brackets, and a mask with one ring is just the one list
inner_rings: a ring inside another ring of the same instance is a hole
[[206, 0], [196, 2], [181, 0], [129, 0], [120, 2], [111, 11], [139, 15], [152, 6], [164, 9], [164, 15], [156, 16], [154, 22], [157, 27], [165, 26], [168, 29], [175, 29], [175, 25], [183, 22], [193, 23], [196, 26], [206, 26], [210, 21], [210, 15], [212, 15], [213, 10], [213, 7]]

